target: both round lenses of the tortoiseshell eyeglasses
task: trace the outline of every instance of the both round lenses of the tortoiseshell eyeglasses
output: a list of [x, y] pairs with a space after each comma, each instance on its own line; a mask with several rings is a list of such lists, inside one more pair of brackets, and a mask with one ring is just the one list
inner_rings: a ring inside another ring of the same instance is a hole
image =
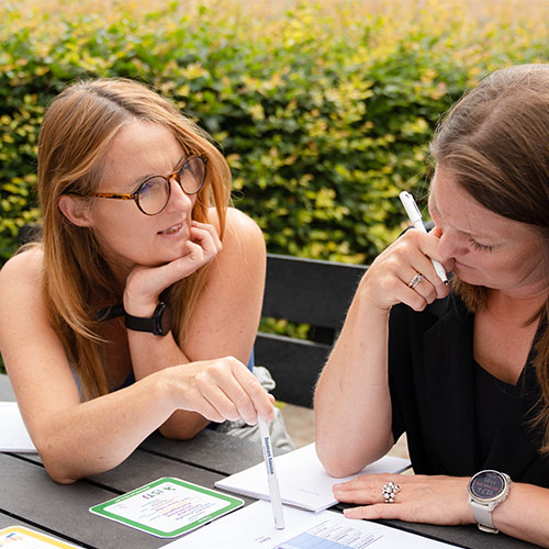
[[[200, 191], [205, 178], [204, 160], [200, 157], [189, 158], [177, 172], [177, 181], [186, 194]], [[139, 187], [137, 200], [139, 208], [148, 215], [161, 212], [170, 197], [171, 182], [165, 177], [152, 177]]]

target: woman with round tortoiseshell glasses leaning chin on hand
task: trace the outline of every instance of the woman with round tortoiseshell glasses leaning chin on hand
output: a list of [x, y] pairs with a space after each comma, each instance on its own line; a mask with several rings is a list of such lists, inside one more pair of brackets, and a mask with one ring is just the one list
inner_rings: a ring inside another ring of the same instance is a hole
[[0, 272], [0, 348], [54, 480], [115, 467], [158, 427], [272, 419], [244, 366], [265, 243], [229, 188], [209, 136], [145, 86], [83, 81], [47, 110], [43, 238]]

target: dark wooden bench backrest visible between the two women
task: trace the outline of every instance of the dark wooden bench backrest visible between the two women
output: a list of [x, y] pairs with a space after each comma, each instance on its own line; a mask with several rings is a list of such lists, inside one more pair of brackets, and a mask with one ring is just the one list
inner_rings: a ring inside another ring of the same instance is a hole
[[366, 269], [363, 265], [267, 255], [262, 316], [310, 324], [313, 339], [258, 333], [256, 365], [271, 372], [277, 400], [312, 407], [316, 380]]

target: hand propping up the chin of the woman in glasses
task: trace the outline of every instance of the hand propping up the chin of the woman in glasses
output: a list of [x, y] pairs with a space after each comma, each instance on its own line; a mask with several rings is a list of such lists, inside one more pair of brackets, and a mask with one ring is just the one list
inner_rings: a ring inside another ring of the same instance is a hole
[[187, 253], [160, 267], [135, 267], [126, 280], [124, 310], [137, 316], [152, 314], [158, 295], [168, 287], [210, 262], [222, 249], [213, 225], [191, 222]]

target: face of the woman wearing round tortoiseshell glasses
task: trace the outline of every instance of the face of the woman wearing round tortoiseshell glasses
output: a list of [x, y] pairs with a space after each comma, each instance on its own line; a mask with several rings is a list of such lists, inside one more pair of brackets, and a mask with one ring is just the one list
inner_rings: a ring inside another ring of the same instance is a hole
[[[186, 155], [173, 134], [160, 124], [134, 121], [114, 138], [97, 192], [134, 192], [149, 176], [176, 171]], [[175, 181], [165, 210], [145, 215], [133, 200], [91, 199], [94, 234], [115, 272], [127, 274], [135, 265], [157, 266], [186, 254], [195, 195]]]

